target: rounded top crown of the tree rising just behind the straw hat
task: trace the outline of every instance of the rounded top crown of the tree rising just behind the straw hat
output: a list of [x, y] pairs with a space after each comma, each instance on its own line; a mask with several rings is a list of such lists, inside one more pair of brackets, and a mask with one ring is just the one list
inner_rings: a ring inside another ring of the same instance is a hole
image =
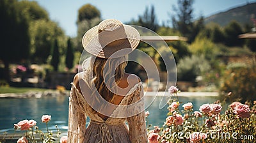
[[85, 4], [78, 10], [77, 22], [81, 22], [83, 20], [92, 20], [96, 17], [100, 17], [100, 11], [91, 4]]

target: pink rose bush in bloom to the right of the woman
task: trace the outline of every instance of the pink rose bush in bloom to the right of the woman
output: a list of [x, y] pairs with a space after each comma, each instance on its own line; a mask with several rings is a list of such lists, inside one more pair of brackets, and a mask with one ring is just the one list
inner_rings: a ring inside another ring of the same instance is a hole
[[163, 127], [152, 128], [148, 124], [148, 142], [256, 142], [256, 101], [233, 102], [227, 110], [217, 101], [205, 103], [194, 111], [193, 103], [179, 102], [177, 90], [175, 86], [169, 89], [171, 96], [176, 96], [168, 102], [169, 112]]

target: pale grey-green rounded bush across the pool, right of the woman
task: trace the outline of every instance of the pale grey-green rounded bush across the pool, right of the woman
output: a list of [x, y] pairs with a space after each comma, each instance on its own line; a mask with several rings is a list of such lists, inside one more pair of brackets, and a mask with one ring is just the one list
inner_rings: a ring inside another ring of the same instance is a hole
[[205, 56], [193, 54], [180, 59], [177, 64], [178, 80], [195, 81], [196, 76], [210, 70], [209, 61]]

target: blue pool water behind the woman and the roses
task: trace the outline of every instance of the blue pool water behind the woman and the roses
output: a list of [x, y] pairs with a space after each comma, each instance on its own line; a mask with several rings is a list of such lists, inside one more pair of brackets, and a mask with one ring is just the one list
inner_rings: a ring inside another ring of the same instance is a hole
[[[217, 100], [216, 96], [191, 96], [179, 97], [180, 102], [192, 102], [194, 110], [198, 110], [203, 103], [213, 103]], [[152, 102], [154, 101], [154, 102]], [[146, 110], [150, 112], [147, 119], [148, 124], [162, 126], [168, 110], [166, 105], [159, 109], [160, 97], [145, 97]], [[181, 107], [181, 106], [180, 106]], [[68, 96], [44, 97], [44, 98], [1, 98], [0, 99], [0, 133], [12, 133], [13, 124], [23, 119], [34, 119], [36, 126], [40, 130], [45, 130], [45, 123], [42, 123], [41, 117], [44, 114], [52, 116], [49, 122], [49, 128], [55, 130], [55, 125], [63, 132], [67, 132], [68, 126]]]

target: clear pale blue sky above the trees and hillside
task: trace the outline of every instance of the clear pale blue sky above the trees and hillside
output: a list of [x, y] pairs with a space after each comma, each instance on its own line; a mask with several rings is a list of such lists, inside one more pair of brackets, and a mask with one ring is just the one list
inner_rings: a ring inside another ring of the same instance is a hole
[[[58, 22], [59, 26], [68, 36], [74, 37], [77, 33], [78, 10], [84, 4], [92, 4], [100, 10], [102, 19], [117, 19], [123, 23], [138, 19], [143, 15], [145, 8], [154, 6], [156, 19], [159, 24], [170, 24], [170, 15], [175, 15], [173, 6], [177, 0], [30, 0], [37, 1], [48, 11], [51, 20]], [[193, 15], [198, 18], [229, 10], [256, 0], [195, 0]], [[168, 22], [169, 21], [169, 22]], [[171, 24], [170, 24], [171, 26]], [[86, 31], [84, 31], [85, 33]]]

